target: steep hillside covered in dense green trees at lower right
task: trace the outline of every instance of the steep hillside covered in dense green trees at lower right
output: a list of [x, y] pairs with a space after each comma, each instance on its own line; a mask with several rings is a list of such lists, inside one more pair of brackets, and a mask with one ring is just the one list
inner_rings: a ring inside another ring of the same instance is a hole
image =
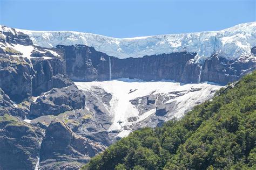
[[83, 169], [256, 169], [256, 72], [180, 121], [119, 140]]

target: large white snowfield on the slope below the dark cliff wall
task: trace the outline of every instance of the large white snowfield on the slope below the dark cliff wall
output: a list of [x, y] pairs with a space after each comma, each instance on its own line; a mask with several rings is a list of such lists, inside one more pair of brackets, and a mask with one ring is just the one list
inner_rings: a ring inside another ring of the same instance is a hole
[[[177, 112], [172, 113], [172, 115], [169, 116], [169, 119], [174, 117], [180, 118], [188, 109], [191, 109], [197, 103], [204, 102], [207, 98], [212, 97], [214, 94], [210, 94], [212, 90], [221, 88], [221, 86], [206, 82], [200, 84], [180, 85], [180, 83], [172, 81], [144, 82], [129, 79], [102, 82], [75, 82], [75, 84], [79, 89], [85, 91], [93, 91], [94, 87], [100, 87], [103, 88], [107, 93], [112, 94], [109, 112], [113, 117], [113, 124], [110, 126], [108, 131], [121, 130], [121, 132], [118, 134], [119, 137], [127, 136], [127, 134], [131, 132], [131, 130], [124, 130], [124, 126], [134, 126], [136, 123], [139, 123], [156, 113], [156, 109], [152, 109], [142, 115], [139, 115], [139, 111], [136, 107], [134, 107], [134, 105], [132, 105], [130, 100], [137, 97], [150, 95], [153, 91], [153, 94], [170, 95], [168, 93], [171, 91], [187, 90], [185, 95], [177, 96], [177, 98], [173, 99], [177, 101], [175, 106]], [[192, 87], [202, 89], [199, 91], [189, 92]], [[133, 92], [129, 93], [130, 91]], [[167, 102], [172, 102], [172, 100]], [[127, 119], [129, 117], [137, 117], [138, 119], [136, 122], [128, 122]]]

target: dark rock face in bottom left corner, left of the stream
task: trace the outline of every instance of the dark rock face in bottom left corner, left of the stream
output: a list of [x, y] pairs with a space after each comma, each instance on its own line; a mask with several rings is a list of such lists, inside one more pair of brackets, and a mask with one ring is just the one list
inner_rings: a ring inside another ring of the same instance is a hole
[[0, 169], [34, 169], [43, 130], [7, 114], [0, 129]]

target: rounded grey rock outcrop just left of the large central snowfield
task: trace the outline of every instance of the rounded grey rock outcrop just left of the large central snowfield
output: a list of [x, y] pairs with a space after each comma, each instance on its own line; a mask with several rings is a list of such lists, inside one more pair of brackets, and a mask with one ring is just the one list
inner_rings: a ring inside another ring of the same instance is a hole
[[84, 109], [85, 95], [75, 85], [61, 89], [53, 88], [30, 106], [28, 118], [58, 115], [68, 110]]

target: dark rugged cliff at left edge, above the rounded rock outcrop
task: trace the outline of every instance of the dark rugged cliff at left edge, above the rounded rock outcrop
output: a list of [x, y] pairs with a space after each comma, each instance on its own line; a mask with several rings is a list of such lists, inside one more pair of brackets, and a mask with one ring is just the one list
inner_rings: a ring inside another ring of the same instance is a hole
[[33, 58], [31, 62], [26, 58], [1, 56], [0, 87], [11, 100], [21, 102], [52, 88], [73, 84], [65, 74], [65, 65], [61, 59]]

